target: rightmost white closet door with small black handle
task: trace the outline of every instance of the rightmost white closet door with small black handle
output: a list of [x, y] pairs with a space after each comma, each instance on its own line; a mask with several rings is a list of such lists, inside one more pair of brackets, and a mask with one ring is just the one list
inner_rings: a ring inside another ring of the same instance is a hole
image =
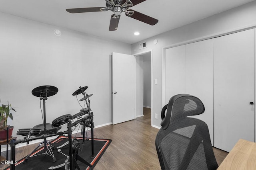
[[254, 30], [214, 39], [214, 147], [254, 142]]

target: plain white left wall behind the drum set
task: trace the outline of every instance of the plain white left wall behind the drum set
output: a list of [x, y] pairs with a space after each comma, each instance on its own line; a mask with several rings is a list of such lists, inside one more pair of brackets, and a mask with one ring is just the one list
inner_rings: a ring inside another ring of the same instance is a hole
[[[79, 86], [88, 86], [86, 92], [93, 94], [94, 124], [112, 122], [111, 54], [131, 54], [131, 45], [4, 13], [0, 23], [0, 99], [16, 108], [14, 120], [8, 121], [14, 137], [18, 129], [42, 123], [40, 100], [31, 91], [43, 85], [59, 90], [46, 100], [48, 123], [79, 112], [72, 96]], [[54, 29], [62, 35], [54, 35]]]

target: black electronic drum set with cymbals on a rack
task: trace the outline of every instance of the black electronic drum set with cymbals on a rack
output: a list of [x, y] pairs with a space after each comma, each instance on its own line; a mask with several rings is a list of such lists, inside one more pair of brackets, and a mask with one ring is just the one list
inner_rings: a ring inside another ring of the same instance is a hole
[[[52, 124], [46, 123], [46, 100], [48, 97], [53, 96], [57, 94], [58, 88], [54, 86], [39, 86], [37, 88], [34, 88], [32, 90], [32, 94], [36, 97], [39, 97], [40, 100], [43, 100], [43, 107], [44, 107], [44, 115], [43, 115], [43, 124], [37, 125], [32, 129], [19, 129], [17, 131], [17, 135], [22, 135], [25, 136], [24, 139], [22, 140], [12, 140], [11, 141], [11, 160], [15, 160], [15, 146], [18, 143], [29, 143], [29, 141], [33, 141], [36, 139], [44, 139], [42, 143], [40, 143], [23, 161], [23, 163], [28, 162], [28, 158], [32, 156], [38, 156], [38, 155], [32, 155], [34, 151], [36, 151], [42, 144], [44, 144], [44, 152], [42, 153], [43, 155], [48, 155], [52, 156], [52, 162], [56, 162], [56, 158], [53, 154], [52, 149], [55, 149], [52, 143], [46, 140], [47, 137], [52, 137], [56, 135], [68, 135], [68, 142], [64, 143], [61, 146], [58, 146], [58, 153], [61, 152], [61, 148], [68, 145], [69, 149], [69, 155], [65, 155], [67, 159], [63, 164], [60, 164], [58, 166], [51, 166], [48, 168], [49, 170], [54, 170], [58, 168], [64, 168], [65, 170], [75, 170], [76, 168], [80, 169], [78, 166], [77, 161], [79, 160], [80, 162], [86, 164], [87, 166], [92, 167], [92, 165], [86, 160], [84, 160], [82, 157], [78, 155], [78, 150], [80, 148], [80, 143], [76, 140], [76, 138], [72, 139], [72, 127], [77, 126], [78, 124], [82, 125], [82, 135], [83, 135], [83, 140], [82, 144], [84, 144], [85, 140], [85, 128], [90, 127], [91, 128], [91, 144], [92, 144], [92, 155], [91, 157], [94, 158], [94, 134], [93, 134], [93, 129], [94, 129], [94, 123], [93, 123], [93, 112], [91, 112], [90, 109], [90, 97], [92, 94], [88, 95], [84, 91], [87, 89], [87, 86], [84, 87], [79, 87], [78, 90], [76, 90], [72, 96], [77, 96], [78, 94], [82, 94], [84, 97], [80, 99], [80, 101], [84, 101], [86, 103], [87, 108], [82, 108], [80, 109], [80, 112], [76, 113], [75, 115], [62, 115], [52, 121]], [[88, 101], [87, 101], [88, 100]], [[59, 129], [61, 129], [62, 126], [67, 125], [68, 130], [64, 132], [58, 132]], [[33, 137], [31, 137], [33, 136]], [[32, 155], [32, 156], [31, 156]], [[15, 170], [15, 165], [12, 164], [10, 166], [10, 170]]]

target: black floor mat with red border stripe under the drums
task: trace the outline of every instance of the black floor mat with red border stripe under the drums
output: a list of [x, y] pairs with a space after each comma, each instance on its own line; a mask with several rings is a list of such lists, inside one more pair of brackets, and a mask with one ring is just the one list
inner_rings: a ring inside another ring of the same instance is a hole
[[[102, 154], [107, 149], [108, 145], [111, 143], [110, 139], [94, 139], [94, 158], [91, 158], [92, 156], [92, 141], [91, 139], [85, 140], [84, 144], [82, 144], [82, 138], [76, 137], [78, 139], [78, 142], [80, 143], [80, 150], [78, 150], [78, 155], [81, 156], [84, 160], [86, 160], [88, 163], [92, 165], [92, 168], [88, 167], [86, 164], [78, 161], [78, 165], [81, 168], [81, 170], [92, 170]], [[66, 136], [59, 136], [55, 140], [52, 141], [52, 145], [55, 147], [58, 147], [65, 142], [68, 141], [68, 138]], [[43, 145], [42, 145], [43, 146]], [[18, 161], [18, 164], [15, 165], [15, 170], [48, 170], [51, 166], [58, 166], [60, 164], [63, 164], [65, 160], [67, 159], [66, 156], [64, 156], [61, 153], [57, 153], [58, 149], [54, 149], [53, 153], [56, 157], [57, 161], [52, 162], [52, 156], [48, 155], [42, 155], [41, 153], [44, 152], [43, 147], [36, 150], [32, 155], [38, 155], [38, 156], [32, 156], [28, 158], [28, 162], [22, 163], [24, 158]], [[63, 147], [61, 149], [61, 152], [68, 155], [68, 145]], [[5, 170], [10, 170], [10, 167], [6, 168]]]

